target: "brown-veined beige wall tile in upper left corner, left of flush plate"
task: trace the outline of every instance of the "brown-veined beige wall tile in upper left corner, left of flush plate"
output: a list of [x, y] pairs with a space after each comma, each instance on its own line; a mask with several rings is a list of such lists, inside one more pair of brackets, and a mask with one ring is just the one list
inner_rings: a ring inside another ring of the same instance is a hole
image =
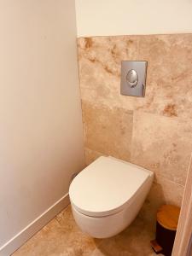
[[133, 97], [120, 95], [120, 65], [137, 59], [137, 44], [135, 36], [79, 38], [82, 100], [133, 109]]

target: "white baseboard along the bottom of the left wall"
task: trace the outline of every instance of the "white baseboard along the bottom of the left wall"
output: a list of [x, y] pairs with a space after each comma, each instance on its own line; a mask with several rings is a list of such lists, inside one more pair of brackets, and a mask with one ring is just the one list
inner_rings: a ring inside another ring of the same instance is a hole
[[32, 223], [28, 224], [25, 229], [21, 230], [16, 236], [6, 242], [3, 247], [0, 247], [0, 256], [9, 256], [11, 253], [14, 253], [16, 249], [38, 232], [38, 230], [41, 230], [50, 219], [54, 218], [55, 215], [61, 212], [63, 208], [67, 207], [68, 204], [69, 196], [67, 193], [38, 218], [33, 220]]

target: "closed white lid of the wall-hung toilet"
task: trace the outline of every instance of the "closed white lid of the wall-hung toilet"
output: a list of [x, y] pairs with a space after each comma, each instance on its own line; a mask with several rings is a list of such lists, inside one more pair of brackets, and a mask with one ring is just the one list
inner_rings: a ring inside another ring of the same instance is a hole
[[85, 215], [108, 216], [131, 201], [150, 175], [140, 166], [101, 156], [73, 179], [70, 200]]

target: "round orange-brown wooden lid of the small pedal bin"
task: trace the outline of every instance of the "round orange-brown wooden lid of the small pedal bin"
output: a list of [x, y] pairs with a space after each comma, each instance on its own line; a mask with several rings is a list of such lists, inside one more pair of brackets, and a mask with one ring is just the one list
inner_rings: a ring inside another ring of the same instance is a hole
[[158, 209], [157, 221], [166, 230], [177, 230], [178, 217], [180, 213], [180, 208], [164, 205]]

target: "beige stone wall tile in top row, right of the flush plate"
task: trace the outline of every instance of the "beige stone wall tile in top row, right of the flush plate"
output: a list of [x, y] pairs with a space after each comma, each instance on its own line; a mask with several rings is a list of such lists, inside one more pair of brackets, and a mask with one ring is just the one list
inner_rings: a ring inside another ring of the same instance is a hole
[[146, 96], [136, 109], [192, 118], [192, 34], [139, 38], [138, 56], [148, 61]]

